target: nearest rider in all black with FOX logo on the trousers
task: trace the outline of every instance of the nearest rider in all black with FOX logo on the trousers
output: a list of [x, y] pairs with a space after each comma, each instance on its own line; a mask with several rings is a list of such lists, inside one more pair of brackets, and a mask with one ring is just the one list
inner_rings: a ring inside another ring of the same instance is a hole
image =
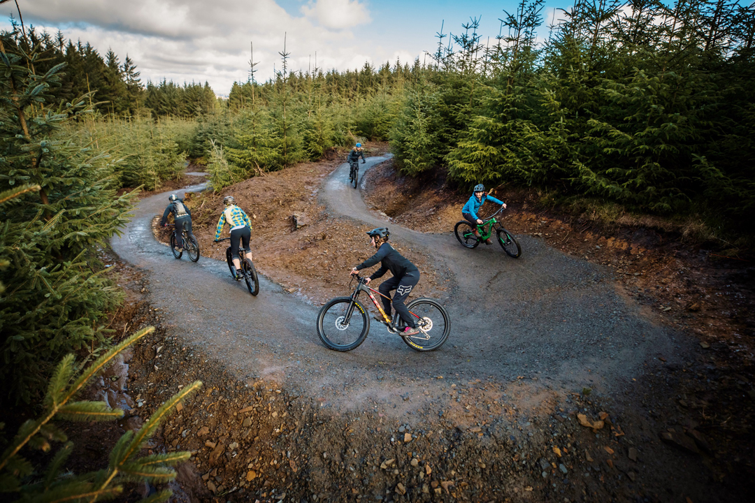
[[[381, 300], [383, 301], [385, 314], [390, 318], [390, 291], [396, 290], [396, 295], [393, 296], [393, 307], [396, 308], [396, 312], [399, 313], [399, 316], [406, 324], [401, 335], [414, 336], [420, 333], [417, 324], [414, 323], [415, 317], [411, 316], [409, 310], [404, 305], [404, 301], [409, 296], [409, 293], [420, 281], [419, 269], [388, 244], [390, 232], [388, 232], [387, 228], [374, 228], [367, 235], [372, 238], [370, 244], [377, 248], [377, 253], [353, 268], [351, 274], [356, 275], [362, 269], [372, 267], [377, 262], [381, 262], [381, 268], [374, 271], [365, 281], [369, 283], [376, 278], [381, 278], [387, 271], [391, 271], [393, 278], [383, 281], [380, 287], [377, 287], [377, 291], [383, 295]], [[375, 319], [381, 321], [377, 317]]]

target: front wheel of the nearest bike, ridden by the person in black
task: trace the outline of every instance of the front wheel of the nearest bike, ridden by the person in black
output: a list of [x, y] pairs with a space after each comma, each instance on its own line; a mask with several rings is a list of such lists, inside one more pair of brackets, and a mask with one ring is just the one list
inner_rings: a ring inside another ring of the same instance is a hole
[[322, 344], [335, 351], [351, 351], [359, 347], [369, 330], [367, 310], [351, 297], [332, 299], [317, 315], [317, 335]]

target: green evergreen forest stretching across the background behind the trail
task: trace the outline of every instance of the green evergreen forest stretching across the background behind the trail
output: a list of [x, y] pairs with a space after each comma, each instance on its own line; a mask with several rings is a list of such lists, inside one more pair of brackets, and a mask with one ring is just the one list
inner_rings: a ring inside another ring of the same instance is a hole
[[[423, 60], [290, 69], [227, 99], [208, 84], [143, 83], [137, 63], [63, 33], [2, 32], [0, 378], [33, 402], [64, 354], [94, 354], [120, 302], [97, 253], [134, 192], [186, 162], [216, 190], [359, 140], [388, 141], [409, 176], [461, 190], [530, 187], [694, 217], [744, 246], [755, 218], [755, 10], [732, 0], [544, 0], [436, 33]], [[558, 20], [558, 18], [561, 20]], [[7, 201], [6, 201], [7, 199]], [[739, 241], [736, 241], [739, 240]], [[738, 243], [738, 244], [737, 244]], [[29, 310], [29, 305], [37, 306]]]

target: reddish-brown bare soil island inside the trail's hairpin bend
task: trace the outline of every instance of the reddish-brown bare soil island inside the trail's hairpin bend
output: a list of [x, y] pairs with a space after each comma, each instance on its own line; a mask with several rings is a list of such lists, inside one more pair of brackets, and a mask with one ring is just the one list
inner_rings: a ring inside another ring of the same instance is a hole
[[[385, 146], [367, 146], [366, 155], [379, 155]], [[342, 216], [328, 213], [317, 201], [322, 179], [343, 164], [346, 154], [339, 152], [333, 159], [317, 163], [299, 164], [286, 170], [237, 183], [220, 193], [190, 195], [186, 204], [192, 210], [193, 233], [199, 241], [202, 256], [224, 261], [227, 242], [213, 244], [217, 219], [223, 211], [223, 198], [233, 195], [236, 204], [245, 210], [252, 221], [250, 247], [257, 271], [282, 285], [288, 292], [297, 293], [316, 305], [334, 296], [350, 293], [349, 271], [374, 253], [365, 234], [372, 227]], [[293, 216], [299, 228], [294, 225]], [[171, 228], [158, 228], [153, 222], [159, 241], [168, 244]], [[228, 237], [228, 227], [223, 229]], [[418, 265], [422, 282], [414, 295], [438, 296], [445, 287], [433, 259], [421, 250], [396, 249]], [[384, 279], [386, 279], [385, 277]], [[373, 285], [383, 280], [375, 281]]]

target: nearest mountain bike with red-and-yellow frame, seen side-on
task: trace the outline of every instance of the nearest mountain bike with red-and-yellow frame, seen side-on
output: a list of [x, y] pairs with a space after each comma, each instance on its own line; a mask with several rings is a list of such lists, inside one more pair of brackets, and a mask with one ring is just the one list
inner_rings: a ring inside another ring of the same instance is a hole
[[317, 335], [328, 348], [335, 351], [351, 351], [367, 338], [367, 333], [370, 331], [370, 317], [365, 307], [359, 302], [361, 292], [367, 293], [377, 311], [382, 315], [381, 324], [384, 324], [390, 333], [401, 336], [410, 348], [417, 351], [433, 351], [448, 339], [451, 324], [448, 321], [448, 313], [438, 302], [433, 299], [416, 299], [409, 302], [406, 307], [409, 313], [416, 317], [420, 333], [402, 336], [402, 330], [405, 327], [399, 314], [393, 314], [393, 321], [391, 321], [372, 295], [372, 293], [381, 296], [383, 294], [368, 287], [365, 278], [356, 275], [356, 280], [356, 288], [350, 297], [331, 299], [322, 306], [317, 315]]

